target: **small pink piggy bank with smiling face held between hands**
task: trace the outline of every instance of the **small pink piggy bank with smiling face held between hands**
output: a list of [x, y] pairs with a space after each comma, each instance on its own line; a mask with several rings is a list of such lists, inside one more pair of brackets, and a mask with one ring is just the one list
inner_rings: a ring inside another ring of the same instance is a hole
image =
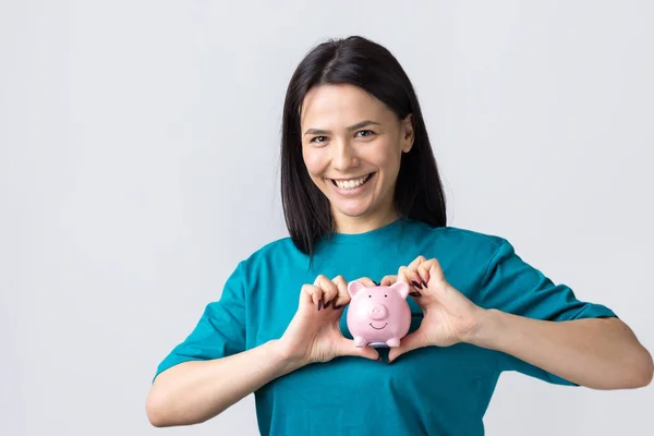
[[407, 302], [409, 284], [366, 288], [359, 281], [348, 283], [352, 298], [348, 308], [348, 328], [356, 347], [399, 347], [411, 327], [411, 308]]

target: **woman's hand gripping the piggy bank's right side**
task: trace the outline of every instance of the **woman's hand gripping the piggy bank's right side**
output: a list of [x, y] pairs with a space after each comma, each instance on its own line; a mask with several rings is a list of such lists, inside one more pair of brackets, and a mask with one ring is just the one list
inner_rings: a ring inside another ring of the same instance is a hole
[[435, 258], [419, 256], [409, 266], [402, 266], [397, 276], [386, 276], [380, 284], [390, 286], [397, 280], [413, 287], [409, 293], [423, 310], [423, 320], [414, 332], [391, 348], [389, 362], [400, 354], [422, 347], [449, 347], [472, 338], [485, 312], [450, 286], [440, 264]]

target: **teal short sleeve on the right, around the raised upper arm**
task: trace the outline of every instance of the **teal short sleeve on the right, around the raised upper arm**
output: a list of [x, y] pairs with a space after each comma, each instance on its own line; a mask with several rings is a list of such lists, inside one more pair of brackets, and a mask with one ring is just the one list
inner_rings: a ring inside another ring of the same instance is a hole
[[[482, 302], [486, 308], [543, 320], [617, 317], [602, 304], [580, 301], [566, 284], [555, 284], [538, 269], [520, 258], [513, 246], [500, 239], [483, 280]], [[506, 353], [499, 356], [500, 371], [517, 371], [548, 383], [573, 383]]]

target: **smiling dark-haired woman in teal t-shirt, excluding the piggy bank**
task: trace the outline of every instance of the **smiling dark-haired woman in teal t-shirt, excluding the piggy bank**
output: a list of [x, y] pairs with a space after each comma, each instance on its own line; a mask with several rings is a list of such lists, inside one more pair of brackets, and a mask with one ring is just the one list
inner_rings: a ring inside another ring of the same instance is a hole
[[[651, 355], [609, 308], [555, 286], [505, 239], [446, 227], [417, 98], [384, 47], [317, 46], [282, 122], [290, 238], [241, 262], [161, 362], [154, 425], [199, 423], [255, 392], [266, 435], [482, 435], [504, 371], [595, 389], [651, 382]], [[355, 347], [347, 286], [379, 279], [411, 284], [410, 334], [390, 350]]]

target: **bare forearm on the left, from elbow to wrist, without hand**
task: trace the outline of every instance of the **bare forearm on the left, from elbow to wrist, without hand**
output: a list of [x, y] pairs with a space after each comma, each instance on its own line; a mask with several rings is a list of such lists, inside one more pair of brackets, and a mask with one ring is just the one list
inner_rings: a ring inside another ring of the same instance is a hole
[[155, 379], [147, 417], [156, 427], [197, 424], [301, 366], [276, 340], [227, 358], [180, 363]]

